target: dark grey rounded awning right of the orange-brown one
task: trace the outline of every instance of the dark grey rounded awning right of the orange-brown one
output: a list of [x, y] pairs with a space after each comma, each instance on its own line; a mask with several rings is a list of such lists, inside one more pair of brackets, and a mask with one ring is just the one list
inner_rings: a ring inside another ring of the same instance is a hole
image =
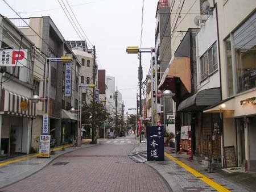
[[220, 87], [204, 89], [182, 101], [178, 107], [178, 111], [203, 110], [220, 101]]

